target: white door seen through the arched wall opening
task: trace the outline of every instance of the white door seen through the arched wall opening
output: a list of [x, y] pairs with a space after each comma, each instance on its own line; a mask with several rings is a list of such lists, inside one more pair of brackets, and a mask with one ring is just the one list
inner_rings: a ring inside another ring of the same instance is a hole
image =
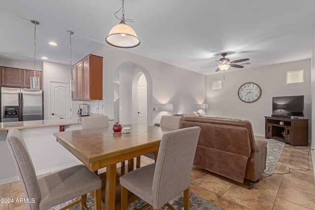
[[138, 86], [138, 123], [147, 124], [147, 87]]

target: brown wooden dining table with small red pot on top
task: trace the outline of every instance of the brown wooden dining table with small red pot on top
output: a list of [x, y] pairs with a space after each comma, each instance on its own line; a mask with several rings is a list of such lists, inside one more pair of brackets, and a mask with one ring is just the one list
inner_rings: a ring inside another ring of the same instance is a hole
[[112, 127], [56, 132], [54, 136], [91, 171], [106, 167], [105, 210], [115, 210], [116, 163], [158, 150], [161, 137], [169, 129], [126, 124], [130, 133]]

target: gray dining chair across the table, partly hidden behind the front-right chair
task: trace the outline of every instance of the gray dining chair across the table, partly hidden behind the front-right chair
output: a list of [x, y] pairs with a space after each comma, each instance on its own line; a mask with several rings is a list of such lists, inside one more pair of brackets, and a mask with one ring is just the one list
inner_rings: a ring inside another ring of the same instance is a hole
[[[182, 127], [182, 119], [183, 118], [180, 116], [163, 115], [161, 117], [159, 126], [161, 128], [177, 130]], [[150, 153], [144, 154], [144, 156], [154, 159], [155, 161], [157, 161], [157, 155], [158, 155], [158, 152], [150, 152]], [[138, 160], [137, 160], [137, 163], [138, 163]], [[139, 164], [140, 164], [140, 160], [139, 160]]]

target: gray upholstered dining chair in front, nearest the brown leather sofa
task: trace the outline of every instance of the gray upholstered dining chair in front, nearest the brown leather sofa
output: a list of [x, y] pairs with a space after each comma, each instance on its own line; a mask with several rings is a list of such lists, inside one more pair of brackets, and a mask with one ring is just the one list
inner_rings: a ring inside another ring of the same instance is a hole
[[121, 207], [127, 210], [128, 190], [159, 209], [184, 191], [184, 209], [189, 210], [192, 162], [200, 127], [189, 127], [163, 134], [156, 163], [143, 166], [120, 177]]

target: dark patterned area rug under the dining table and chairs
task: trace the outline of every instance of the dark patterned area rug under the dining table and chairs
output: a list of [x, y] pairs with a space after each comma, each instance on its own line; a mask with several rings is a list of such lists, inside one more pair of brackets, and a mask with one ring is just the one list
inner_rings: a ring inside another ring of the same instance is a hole
[[[66, 203], [70, 203], [70, 202], [66, 202]], [[58, 210], [58, 209], [62, 208], [63, 206], [65, 206], [66, 203], [64, 203], [62, 205], [58, 205], [56, 207], [53, 207], [50, 210]], [[184, 210], [184, 207], [183, 207], [184, 195], [183, 195], [183, 193], [181, 195], [175, 197], [169, 203], [172, 206], [174, 206], [174, 208], [177, 210]], [[147, 203], [144, 202], [142, 199], [139, 199], [139, 200], [131, 203], [130, 205], [128, 205], [128, 210], [138, 210], [146, 204]], [[192, 192], [190, 192], [189, 204], [190, 204], [189, 205], [190, 210], [224, 210], [221, 207], [219, 207], [218, 205], [216, 205], [210, 201], [207, 201], [206, 199], [201, 198], [200, 196], [198, 196]], [[87, 206], [90, 208], [90, 210], [94, 210], [94, 198], [90, 195], [90, 193], [88, 193], [88, 197], [87, 197]], [[81, 204], [77, 204], [77, 205], [69, 208], [69, 210], [81, 210]], [[147, 210], [152, 210], [152, 207], [148, 208]], [[162, 207], [161, 210], [169, 210], [169, 208], [168, 207]]]

